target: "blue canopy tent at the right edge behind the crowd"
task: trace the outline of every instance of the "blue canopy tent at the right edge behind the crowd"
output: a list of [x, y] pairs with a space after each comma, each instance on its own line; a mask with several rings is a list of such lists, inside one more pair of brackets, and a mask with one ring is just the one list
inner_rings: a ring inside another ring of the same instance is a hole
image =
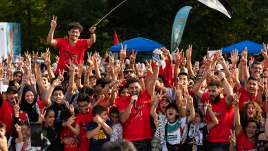
[[228, 47], [224, 47], [222, 49], [223, 54], [230, 54], [230, 52], [234, 49], [238, 49], [238, 54], [241, 54], [241, 52], [244, 50], [244, 48], [247, 47], [247, 54], [260, 54], [260, 50], [263, 49], [263, 45], [260, 45], [258, 43], [254, 43], [249, 40], [244, 40], [239, 43], [236, 43], [234, 45], [230, 45]]

